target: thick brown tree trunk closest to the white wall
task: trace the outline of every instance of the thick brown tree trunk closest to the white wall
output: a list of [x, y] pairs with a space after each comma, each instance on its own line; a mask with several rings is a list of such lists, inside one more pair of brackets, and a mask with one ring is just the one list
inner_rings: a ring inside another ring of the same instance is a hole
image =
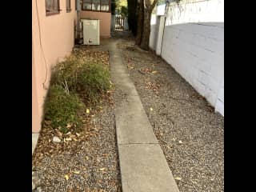
[[150, 50], [150, 20], [152, 10], [144, 9], [144, 22], [143, 22], [143, 34], [141, 48], [142, 50]]

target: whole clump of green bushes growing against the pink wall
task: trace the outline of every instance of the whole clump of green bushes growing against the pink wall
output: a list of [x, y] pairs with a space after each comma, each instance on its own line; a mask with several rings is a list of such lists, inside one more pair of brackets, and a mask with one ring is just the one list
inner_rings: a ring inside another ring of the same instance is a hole
[[62, 133], [79, 130], [82, 126], [79, 114], [85, 109], [83, 102], [88, 105], [97, 103], [111, 86], [108, 66], [86, 63], [85, 59], [73, 54], [59, 62], [52, 72], [45, 120]]

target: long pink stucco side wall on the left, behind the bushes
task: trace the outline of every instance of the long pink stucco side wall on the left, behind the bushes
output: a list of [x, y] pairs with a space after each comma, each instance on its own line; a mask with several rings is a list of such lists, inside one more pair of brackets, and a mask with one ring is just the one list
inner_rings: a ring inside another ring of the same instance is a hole
[[[72, 10], [66, 13], [66, 0], [60, 0], [60, 14], [46, 16], [45, 1], [32, 1], [32, 132], [41, 129], [42, 107], [50, 82], [51, 67], [58, 59], [70, 54], [74, 46], [74, 2], [71, 0]], [[43, 82], [46, 82], [45, 88]]]

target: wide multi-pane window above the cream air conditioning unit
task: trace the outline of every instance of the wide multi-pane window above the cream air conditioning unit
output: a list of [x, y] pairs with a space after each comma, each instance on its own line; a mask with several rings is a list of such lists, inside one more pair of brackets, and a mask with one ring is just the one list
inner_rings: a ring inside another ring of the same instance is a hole
[[110, 12], [110, 0], [82, 0], [82, 10]]

